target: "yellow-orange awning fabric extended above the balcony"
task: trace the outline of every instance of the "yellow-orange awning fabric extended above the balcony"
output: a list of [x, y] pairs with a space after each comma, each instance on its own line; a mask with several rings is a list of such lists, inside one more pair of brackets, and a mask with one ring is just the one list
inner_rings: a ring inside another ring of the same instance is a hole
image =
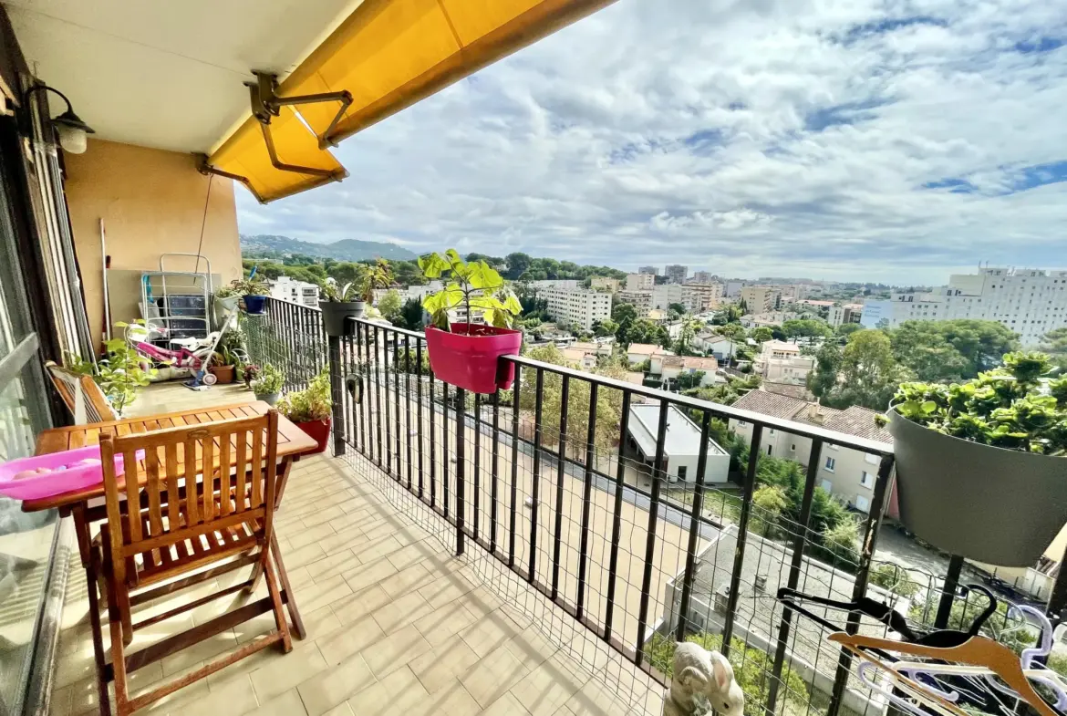
[[[280, 97], [347, 90], [352, 104], [324, 142], [338, 105], [300, 106], [271, 123], [278, 158], [329, 169], [323, 178], [274, 168], [250, 117], [209, 160], [248, 178], [269, 202], [343, 176], [320, 144], [336, 144], [614, 0], [365, 0], [282, 82]], [[282, 124], [285, 122], [285, 128]]]

